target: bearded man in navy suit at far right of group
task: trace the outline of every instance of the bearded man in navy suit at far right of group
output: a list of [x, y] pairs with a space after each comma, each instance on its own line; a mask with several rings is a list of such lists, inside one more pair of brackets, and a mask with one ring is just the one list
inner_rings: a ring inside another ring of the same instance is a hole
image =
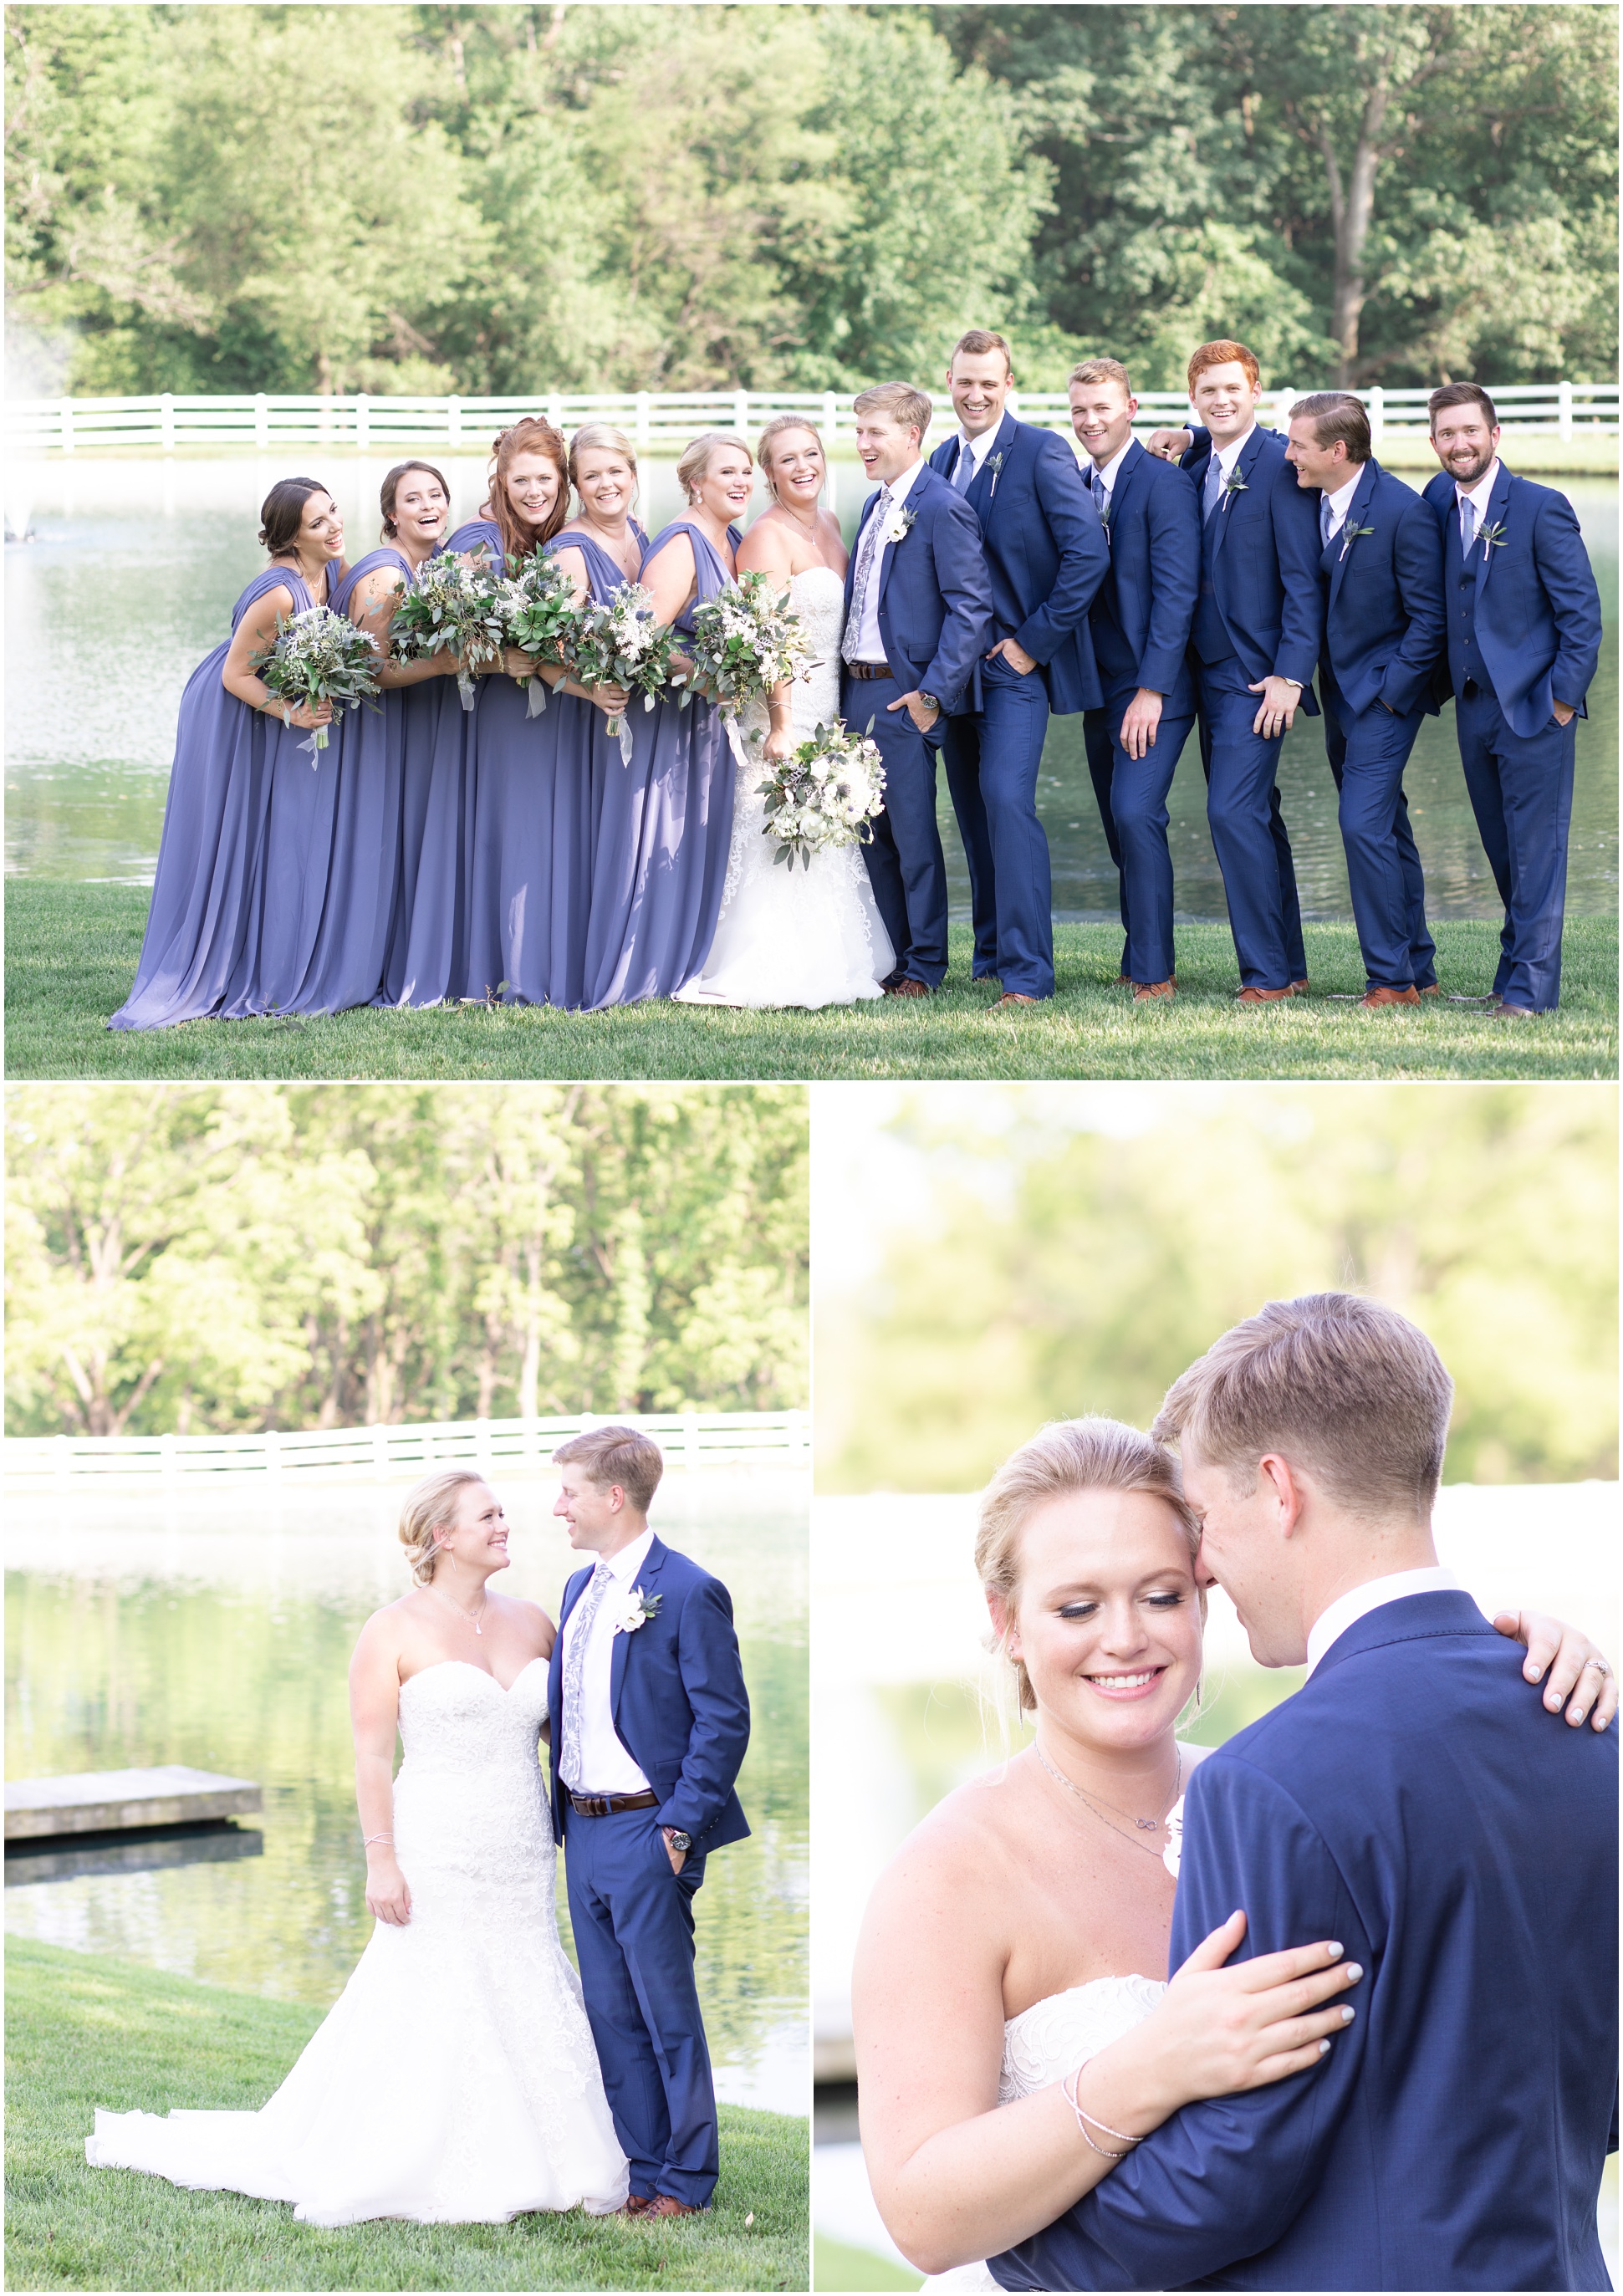
[[1600, 659], [1600, 597], [1572, 505], [1499, 461], [1494, 402], [1476, 383], [1430, 395], [1442, 471], [1426, 487], [1444, 542], [1460, 765], [1504, 902], [1492, 996], [1506, 1019], [1561, 994], [1566, 838], [1577, 719]]

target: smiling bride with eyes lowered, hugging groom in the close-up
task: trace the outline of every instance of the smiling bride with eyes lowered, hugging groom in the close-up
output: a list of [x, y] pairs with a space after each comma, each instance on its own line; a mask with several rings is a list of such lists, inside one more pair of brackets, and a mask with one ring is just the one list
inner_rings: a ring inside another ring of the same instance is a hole
[[[1311, 2080], [1359, 2014], [1364, 1972], [1334, 1940], [1224, 1968], [1244, 1913], [1157, 1975], [1210, 1752], [1173, 1736], [1201, 1678], [1196, 1545], [1173, 1458], [1111, 1419], [1045, 1428], [983, 1499], [976, 1568], [1035, 1738], [909, 1837], [852, 1979], [868, 2177], [927, 2287], [994, 2289], [980, 2259], [1125, 2147], [1198, 2099]], [[1554, 1653], [1559, 1706], [1593, 1646], [1531, 1614], [1494, 1626], [1529, 1644], [1533, 1681]]]

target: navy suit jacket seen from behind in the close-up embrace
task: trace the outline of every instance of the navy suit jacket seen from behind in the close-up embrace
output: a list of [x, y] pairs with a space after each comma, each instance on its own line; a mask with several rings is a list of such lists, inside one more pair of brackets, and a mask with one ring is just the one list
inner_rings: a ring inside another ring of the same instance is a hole
[[1171, 1968], [1341, 1938], [1309, 2073], [1185, 2105], [1005, 2289], [1605, 2289], [1616, 1724], [1572, 1731], [1465, 1593], [1357, 1619], [1189, 1782]]

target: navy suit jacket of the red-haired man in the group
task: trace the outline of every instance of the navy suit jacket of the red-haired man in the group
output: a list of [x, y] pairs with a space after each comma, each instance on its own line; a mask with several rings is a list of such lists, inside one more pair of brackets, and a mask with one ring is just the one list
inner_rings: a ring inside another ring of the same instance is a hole
[[[1182, 459], [1196, 505], [1212, 459], [1212, 434], [1194, 429]], [[1279, 432], [1253, 429], [1240, 448], [1235, 478], [1244, 491], [1219, 505], [1212, 592], [1228, 643], [1249, 677], [1302, 680], [1302, 709], [1318, 716], [1313, 670], [1325, 636], [1318, 585], [1318, 496], [1297, 487]]]

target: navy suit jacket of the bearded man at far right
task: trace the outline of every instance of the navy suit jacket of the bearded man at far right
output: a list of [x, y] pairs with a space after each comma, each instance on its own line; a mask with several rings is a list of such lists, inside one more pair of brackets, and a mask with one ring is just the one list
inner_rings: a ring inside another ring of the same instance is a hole
[[[1430, 480], [1426, 501], [1442, 521], [1449, 574], [1458, 581], [1460, 498], [1446, 471]], [[1589, 716], [1584, 696], [1600, 661], [1600, 592], [1572, 505], [1554, 487], [1538, 487], [1499, 464], [1485, 523], [1501, 523], [1504, 540], [1492, 546], [1478, 540], [1471, 551], [1476, 652], [1506, 726], [1520, 735], [1543, 732], [1554, 703]], [[1446, 700], [1462, 675], [1458, 659], [1444, 654], [1437, 700]]]

